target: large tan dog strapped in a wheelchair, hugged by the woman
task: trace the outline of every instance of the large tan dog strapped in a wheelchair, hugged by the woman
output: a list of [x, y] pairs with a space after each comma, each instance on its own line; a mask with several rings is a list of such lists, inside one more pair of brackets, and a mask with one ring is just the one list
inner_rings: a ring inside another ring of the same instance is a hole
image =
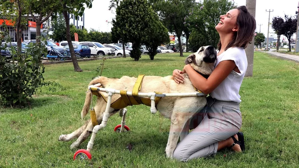
[[[190, 64], [196, 71], [203, 75], [210, 75], [214, 69], [214, 62], [216, 61], [217, 54], [215, 48], [212, 46], [205, 46], [191, 54], [186, 58], [185, 63]], [[145, 76], [142, 82], [140, 92], [162, 92], [162, 93], [188, 93], [196, 92], [187, 74], [184, 74], [185, 82], [177, 84], [172, 76], [158, 77], [158, 76]], [[103, 88], [114, 88], [117, 90], [132, 91], [137, 78], [123, 76], [120, 79], [109, 79], [106, 77], [97, 77], [92, 80], [89, 85], [101, 83]], [[103, 92], [108, 97], [108, 94]], [[112, 97], [112, 102], [120, 97], [115, 94]], [[84, 107], [81, 112], [81, 117], [85, 117], [89, 111], [91, 96], [90, 93], [86, 94]], [[157, 104], [157, 109], [161, 115], [171, 120], [170, 132], [168, 137], [167, 146], [165, 149], [167, 157], [173, 157], [173, 151], [176, 148], [179, 136], [181, 140], [187, 135], [189, 130], [189, 122], [187, 122], [193, 115], [201, 110], [207, 100], [205, 96], [198, 97], [162, 97]], [[103, 113], [106, 108], [106, 102], [102, 97], [97, 97], [97, 103], [94, 107], [97, 122], [101, 123]], [[110, 108], [109, 113], [115, 112], [116, 109]], [[77, 148], [85, 141], [92, 133], [92, 123], [88, 120], [83, 126], [68, 135], [60, 135], [59, 140], [68, 142], [78, 138], [71, 144], [71, 148]], [[182, 130], [186, 130], [182, 132]]]

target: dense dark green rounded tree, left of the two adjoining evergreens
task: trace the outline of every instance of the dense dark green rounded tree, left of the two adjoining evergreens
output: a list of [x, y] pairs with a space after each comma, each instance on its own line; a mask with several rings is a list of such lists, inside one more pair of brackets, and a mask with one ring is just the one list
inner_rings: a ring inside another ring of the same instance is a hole
[[146, 29], [150, 26], [152, 7], [147, 0], [124, 0], [116, 9], [116, 18], [112, 20], [112, 34], [123, 41], [132, 42], [131, 57], [135, 61], [141, 58], [139, 47], [141, 39], [146, 36]]

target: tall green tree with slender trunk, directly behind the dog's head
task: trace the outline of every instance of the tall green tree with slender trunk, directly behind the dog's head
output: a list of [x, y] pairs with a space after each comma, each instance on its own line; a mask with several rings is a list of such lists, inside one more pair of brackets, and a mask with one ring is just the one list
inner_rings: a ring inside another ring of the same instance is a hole
[[191, 14], [195, 0], [161, 0], [157, 2], [158, 13], [163, 25], [179, 40], [180, 56], [183, 55], [181, 36], [185, 29], [185, 17]]

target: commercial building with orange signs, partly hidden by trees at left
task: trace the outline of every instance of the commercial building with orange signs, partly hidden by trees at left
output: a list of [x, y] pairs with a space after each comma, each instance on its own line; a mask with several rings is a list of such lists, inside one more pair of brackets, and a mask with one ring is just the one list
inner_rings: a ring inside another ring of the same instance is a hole
[[[68, 14], [70, 17], [70, 25], [73, 24], [76, 26], [77, 29], [83, 29], [84, 28], [84, 13], [83, 16], [77, 16], [74, 18], [74, 14]], [[16, 29], [14, 27], [14, 23], [7, 19], [0, 19], [0, 25], [5, 22], [7, 29], [9, 30], [10, 38], [12, 42], [16, 42]], [[46, 33], [43, 33], [46, 27], [49, 27], [49, 34], [53, 34], [52, 26], [51, 26], [51, 18], [48, 19], [46, 22], [44, 22], [41, 25], [41, 35], [46, 36]], [[6, 28], [0, 26], [0, 31], [4, 31]], [[26, 24], [25, 28], [22, 31], [22, 40], [35, 40], [36, 39], [36, 22], [34, 22], [31, 15], [28, 16], [28, 23]], [[50, 39], [52, 41], [52, 39]]]

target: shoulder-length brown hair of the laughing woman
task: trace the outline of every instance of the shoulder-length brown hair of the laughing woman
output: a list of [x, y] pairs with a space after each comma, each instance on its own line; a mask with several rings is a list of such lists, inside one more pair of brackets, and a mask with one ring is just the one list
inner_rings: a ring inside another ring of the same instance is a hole
[[[237, 17], [238, 31], [234, 33], [233, 40], [228, 43], [224, 51], [231, 47], [246, 48], [254, 37], [256, 23], [254, 17], [248, 12], [245, 6], [237, 7], [239, 15]], [[218, 43], [218, 50], [221, 50], [221, 41]]]

